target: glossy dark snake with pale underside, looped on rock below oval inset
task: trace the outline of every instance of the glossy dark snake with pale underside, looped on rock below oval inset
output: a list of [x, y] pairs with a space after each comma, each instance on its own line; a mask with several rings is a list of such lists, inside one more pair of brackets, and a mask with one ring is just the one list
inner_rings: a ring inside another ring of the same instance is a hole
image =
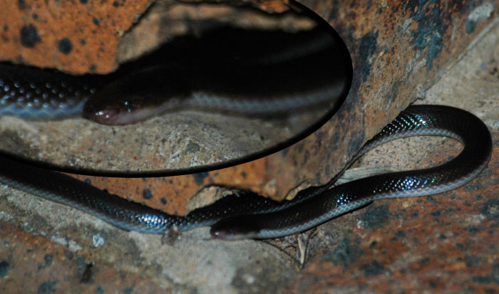
[[476, 177], [490, 159], [492, 140], [483, 122], [465, 110], [413, 105], [366, 143], [358, 156], [399, 137], [436, 135], [463, 143], [461, 154], [438, 167], [381, 174], [331, 187], [332, 181], [277, 202], [249, 191], [172, 216], [127, 201], [65, 174], [0, 157], [0, 182], [81, 209], [128, 231], [163, 233], [211, 226], [214, 238], [277, 238], [305, 231], [376, 199], [423, 196], [455, 189]]

